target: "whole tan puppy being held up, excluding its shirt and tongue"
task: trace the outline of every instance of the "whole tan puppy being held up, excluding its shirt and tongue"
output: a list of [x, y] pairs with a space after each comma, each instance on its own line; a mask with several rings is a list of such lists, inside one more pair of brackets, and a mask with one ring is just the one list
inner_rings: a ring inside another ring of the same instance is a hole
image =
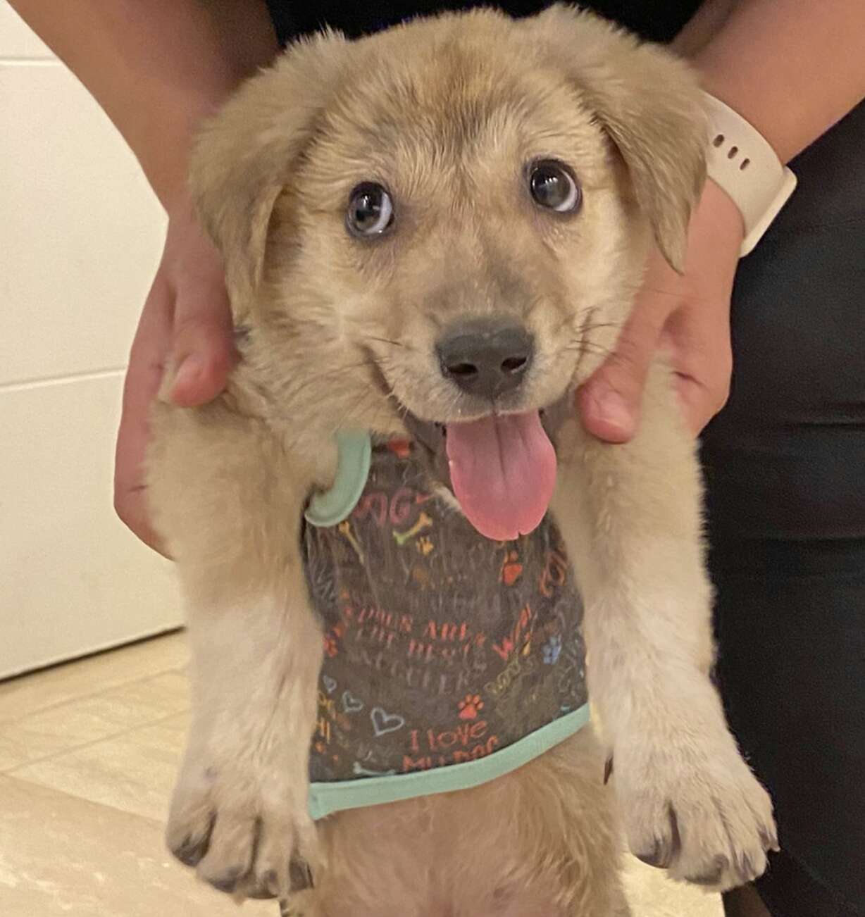
[[[586, 727], [476, 790], [317, 827], [306, 806], [322, 631], [299, 537], [335, 432], [559, 401], [615, 340], [651, 238], [682, 264], [704, 142], [681, 62], [563, 6], [305, 41], [205, 130], [194, 193], [242, 359], [216, 403], [158, 406], [150, 456], [194, 650], [168, 839], [202, 878], [287, 897], [294, 856], [307, 915], [626, 914], [605, 761], [638, 856], [718, 888], [763, 871], [771, 803], [710, 681], [699, 472], [660, 366], [627, 446], [575, 419], [556, 443], [603, 749]], [[441, 336], [501, 322], [531, 359], [473, 392]]]

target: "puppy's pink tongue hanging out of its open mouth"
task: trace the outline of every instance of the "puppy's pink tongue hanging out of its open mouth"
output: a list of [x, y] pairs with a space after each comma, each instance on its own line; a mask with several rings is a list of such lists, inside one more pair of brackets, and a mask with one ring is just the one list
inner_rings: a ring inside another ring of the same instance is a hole
[[537, 411], [448, 425], [450, 483], [462, 512], [488, 538], [537, 528], [556, 483], [556, 452]]

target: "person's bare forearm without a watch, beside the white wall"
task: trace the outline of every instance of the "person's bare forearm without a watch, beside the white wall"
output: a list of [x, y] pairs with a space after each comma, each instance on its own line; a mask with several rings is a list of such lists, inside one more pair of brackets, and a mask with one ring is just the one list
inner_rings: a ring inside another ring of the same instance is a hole
[[262, 0], [10, 0], [103, 107], [163, 206], [198, 121], [277, 50]]

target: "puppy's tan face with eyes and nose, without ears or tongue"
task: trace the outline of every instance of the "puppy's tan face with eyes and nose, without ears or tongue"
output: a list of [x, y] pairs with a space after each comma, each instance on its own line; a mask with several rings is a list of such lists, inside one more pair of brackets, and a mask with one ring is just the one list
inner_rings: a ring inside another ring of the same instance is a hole
[[634, 280], [612, 144], [563, 74], [500, 49], [401, 63], [385, 57], [330, 111], [281, 202], [297, 246], [285, 305], [302, 282], [396, 411], [441, 425], [537, 411]]

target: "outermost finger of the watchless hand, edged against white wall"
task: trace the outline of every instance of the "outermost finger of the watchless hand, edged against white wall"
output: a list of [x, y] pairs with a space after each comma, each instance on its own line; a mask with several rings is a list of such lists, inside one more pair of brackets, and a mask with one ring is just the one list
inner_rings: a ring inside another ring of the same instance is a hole
[[160, 272], [141, 313], [129, 353], [115, 450], [114, 505], [123, 523], [161, 554], [165, 550], [147, 512], [143, 463], [150, 404], [159, 391], [170, 340], [171, 291]]

